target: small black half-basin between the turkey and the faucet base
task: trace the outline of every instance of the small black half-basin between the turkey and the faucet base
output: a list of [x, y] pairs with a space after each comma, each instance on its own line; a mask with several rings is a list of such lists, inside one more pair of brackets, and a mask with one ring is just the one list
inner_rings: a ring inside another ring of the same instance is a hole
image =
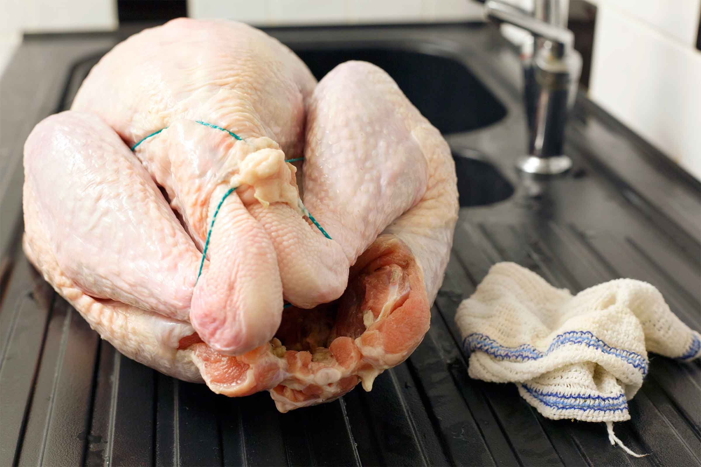
[[[473, 154], [474, 153], [474, 154]], [[484, 206], [506, 200], [514, 186], [476, 151], [453, 152], [460, 207]]]

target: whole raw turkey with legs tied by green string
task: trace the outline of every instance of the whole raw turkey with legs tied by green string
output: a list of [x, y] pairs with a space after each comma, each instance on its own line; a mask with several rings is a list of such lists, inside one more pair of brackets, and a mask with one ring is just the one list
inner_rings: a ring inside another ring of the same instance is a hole
[[[297, 178], [284, 160], [302, 154]], [[269, 390], [282, 411], [369, 390], [411, 354], [458, 209], [447, 144], [386, 73], [348, 62], [315, 85], [235, 22], [116, 46], [73, 110], [36, 126], [25, 174], [27, 256], [90, 326], [213, 391]]]

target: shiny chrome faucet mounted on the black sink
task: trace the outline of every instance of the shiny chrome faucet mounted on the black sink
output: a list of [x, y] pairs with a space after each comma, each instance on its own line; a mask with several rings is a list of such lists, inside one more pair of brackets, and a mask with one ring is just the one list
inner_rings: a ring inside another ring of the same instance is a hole
[[507, 22], [532, 34], [520, 54], [528, 153], [519, 157], [516, 165], [529, 174], [561, 174], [572, 167], [572, 160], [564, 154], [564, 128], [576, 95], [582, 57], [573, 49], [574, 36], [566, 29], [566, 1], [535, 0], [534, 6], [531, 15], [489, 0], [484, 11], [488, 20]]

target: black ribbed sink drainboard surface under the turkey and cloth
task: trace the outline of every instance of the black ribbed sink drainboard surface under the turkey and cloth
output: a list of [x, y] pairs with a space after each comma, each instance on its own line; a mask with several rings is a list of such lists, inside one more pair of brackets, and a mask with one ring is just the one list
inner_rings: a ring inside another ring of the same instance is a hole
[[[701, 330], [701, 183], [582, 94], [566, 128], [573, 169], [518, 174], [521, 69], [492, 27], [267, 31], [312, 62], [367, 50], [448, 60], [498, 103], [414, 97], [453, 149], [463, 206], [428, 335], [371, 393], [356, 388], [288, 414], [266, 393], [216, 396], [118, 354], [21, 251], [22, 145], [132, 31], [27, 37], [0, 81], [0, 465], [701, 465], [699, 361], [651, 355], [632, 419], [615, 424], [625, 445], [651, 453], [634, 459], [608, 445], [603, 424], [545, 419], [514, 385], [470, 379], [453, 320], [489, 267], [511, 260], [573, 292], [617, 277], [648, 281]], [[415, 73], [438, 79], [440, 60]], [[488, 110], [494, 121], [469, 123]]]

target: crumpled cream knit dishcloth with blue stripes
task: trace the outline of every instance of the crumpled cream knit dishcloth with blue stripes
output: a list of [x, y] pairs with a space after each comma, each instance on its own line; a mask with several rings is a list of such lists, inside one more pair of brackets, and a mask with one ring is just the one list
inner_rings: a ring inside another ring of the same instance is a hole
[[617, 279], [571, 295], [515, 263], [491, 267], [456, 314], [470, 377], [512, 382], [550, 419], [630, 419], [627, 401], [648, 373], [648, 351], [701, 356], [701, 335], [669, 309], [657, 288]]

